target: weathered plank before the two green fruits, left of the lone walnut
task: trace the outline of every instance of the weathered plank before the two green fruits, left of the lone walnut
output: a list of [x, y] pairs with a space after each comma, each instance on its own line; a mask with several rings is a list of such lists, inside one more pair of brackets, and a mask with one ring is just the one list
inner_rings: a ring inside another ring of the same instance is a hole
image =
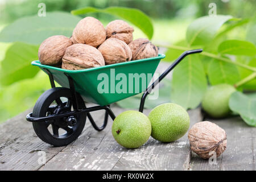
[[[203, 119], [200, 109], [189, 110], [191, 126]], [[188, 168], [190, 148], [185, 134], [179, 140], [162, 143], [150, 138], [135, 150], [127, 150], [113, 170], [183, 170]]]

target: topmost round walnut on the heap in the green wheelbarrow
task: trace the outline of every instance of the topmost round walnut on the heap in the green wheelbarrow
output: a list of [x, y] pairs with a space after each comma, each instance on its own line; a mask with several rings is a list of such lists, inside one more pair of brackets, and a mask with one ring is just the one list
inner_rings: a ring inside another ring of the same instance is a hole
[[90, 16], [80, 20], [73, 30], [72, 41], [74, 43], [98, 47], [105, 39], [106, 30], [103, 24]]

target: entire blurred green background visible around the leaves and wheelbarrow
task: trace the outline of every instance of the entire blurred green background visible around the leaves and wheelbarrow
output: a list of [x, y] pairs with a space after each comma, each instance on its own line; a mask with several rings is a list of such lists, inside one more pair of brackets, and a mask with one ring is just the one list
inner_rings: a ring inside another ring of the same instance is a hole
[[[185, 46], [185, 35], [188, 25], [199, 16], [208, 15], [209, 3], [217, 4], [217, 14], [230, 14], [238, 18], [251, 18], [255, 16], [255, 0], [236, 0], [227, 3], [221, 0], [8, 0], [5, 3], [0, 1], [0, 30], [14, 20], [23, 18], [28, 15], [38, 13], [39, 3], [46, 4], [46, 11], [67, 11], [80, 9], [87, 6], [96, 8], [106, 8], [110, 6], [133, 7], [142, 10], [152, 18], [154, 24], [154, 36], [152, 41], [155, 43], [167, 43], [177, 46]], [[91, 14], [89, 14], [91, 15]], [[92, 14], [99, 18], [104, 25], [110, 20], [115, 19], [113, 15], [108, 14]], [[84, 15], [80, 15], [84, 16]], [[229, 31], [229, 34], [220, 36], [219, 39], [214, 39], [207, 51], [217, 52], [218, 44], [229, 38], [237, 38], [240, 40], [249, 40], [255, 43], [255, 23], [250, 23], [249, 26], [245, 23], [244, 26], [238, 26], [230, 31], [235, 23], [226, 23], [220, 28], [221, 31]], [[225, 29], [226, 28], [226, 29]], [[248, 31], [247, 31], [248, 30]], [[135, 27], [134, 38], [144, 37], [145, 35], [139, 28]], [[254, 37], [254, 38], [253, 38]], [[7, 49], [15, 43], [0, 43], [0, 61], [5, 59]], [[171, 51], [168, 55], [170, 60], [174, 60], [179, 56], [179, 50]], [[207, 72], [207, 60], [201, 56], [203, 66]], [[255, 66], [255, 61], [249, 60], [247, 63], [241, 58], [241, 63], [246, 63]], [[1, 64], [0, 64], [1, 68]], [[243, 70], [244, 71], [244, 70]], [[244, 71], [242, 77], [246, 77], [250, 72]], [[253, 82], [252, 86], [255, 83]], [[47, 75], [40, 71], [33, 78], [28, 78], [19, 82], [15, 82], [9, 86], [0, 85], [0, 122], [11, 118], [14, 115], [31, 108], [40, 94], [49, 89], [49, 81]]]

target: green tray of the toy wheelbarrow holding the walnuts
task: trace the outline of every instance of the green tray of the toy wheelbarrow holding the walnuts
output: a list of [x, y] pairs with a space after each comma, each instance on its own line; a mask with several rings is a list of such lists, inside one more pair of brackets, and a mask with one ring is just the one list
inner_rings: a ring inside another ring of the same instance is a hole
[[[148, 59], [127, 61], [124, 63], [80, 70], [67, 70], [51, 67], [40, 64], [40, 61], [33, 61], [32, 65], [38, 66], [47, 74], [50, 72], [53, 79], [65, 88], [69, 88], [67, 75], [70, 76], [73, 79], [76, 92], [81, 94], [85, 101], [104, 106], [134, 96], [135, 94], [142, 93], [146, 90], [147, 85], [152, 78], [148, 75], [154, 75], [160, 60], [164, 57], [165, 55], [159, 55], [158, 57], [151, 57]], [[141, 73], [144, 75], [139, 78], [138, 76], [140, 76]], [[116, 80], [118, 74], [122, 78], [127, 78], [124, 81], [127, 84], [125, 86], [126, 88], [121, 88], [121, 93], [116, 92], [115, 89], [119, 82], [123, 82], [122, 79]], [[107, 87], [107, 89], [105, 87]], [[104, 88], [106, 89], [106, 92], [99, 92], [99, 89], [102, 90]], [[131, 88], [133, 89], [131, 90]]]

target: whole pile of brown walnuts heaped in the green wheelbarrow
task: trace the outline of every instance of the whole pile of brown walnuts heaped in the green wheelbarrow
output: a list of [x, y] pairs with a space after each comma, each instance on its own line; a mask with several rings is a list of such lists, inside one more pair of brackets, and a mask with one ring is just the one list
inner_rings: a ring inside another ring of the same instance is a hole
[[63, 69], [86, 69], [158, 56], [148, 39], [133, 40], [134, 28], [123, 20], [106, 26], [96, 18], [77, 23], [71, 38], [51, 36], [40, 45], [40, 63]]

